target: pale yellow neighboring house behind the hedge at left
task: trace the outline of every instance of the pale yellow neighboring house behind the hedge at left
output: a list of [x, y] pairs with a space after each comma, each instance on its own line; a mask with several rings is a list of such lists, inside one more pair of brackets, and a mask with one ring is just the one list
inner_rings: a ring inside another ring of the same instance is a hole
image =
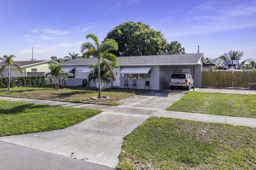
[[[22, 74], [15, 65], [10, 66], [11, 77], [22, 77], [22, 76], [45, 76], [49, 72], [48, 66], [50, 64], [57, 65], [58, 63], [51, 60], [44, 61], [14, 61], [13, 63], [18, 64], [22, 69]], [[0, 68], [4, 66], [4, 63], [0, 62]], [[2, 76], [0, 74], [0, 76]], [[8, 77], [8, 66], [4, 69], [4, 77]]]

